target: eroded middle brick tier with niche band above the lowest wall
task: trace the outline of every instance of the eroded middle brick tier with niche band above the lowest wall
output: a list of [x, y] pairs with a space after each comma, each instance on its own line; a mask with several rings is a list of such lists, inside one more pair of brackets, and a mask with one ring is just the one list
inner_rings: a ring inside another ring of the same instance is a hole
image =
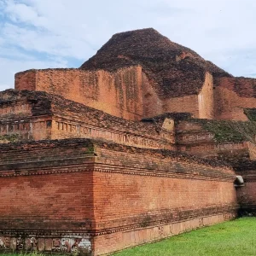
[[0, 95], [6, 99], [0, 103], [1, 143], [94, 137], [140, 148], [175, 149], [173, 127], [119, 119], [38, 91], [6, 90]]

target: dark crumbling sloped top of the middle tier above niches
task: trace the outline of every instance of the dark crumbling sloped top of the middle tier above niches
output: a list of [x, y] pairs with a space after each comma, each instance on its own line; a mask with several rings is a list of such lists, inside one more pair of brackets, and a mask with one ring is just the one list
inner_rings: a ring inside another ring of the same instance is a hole
[[62, 96], [30, 90], [4, 90], [0, 92], [0, 108], [6, 104], [15, 104], [18, 101], [31, 102], [33, 116], [44, 114], [73, 115], [74, 118], [86, 119], [87, 125], [102, 128], [111, 127], [124, 132], [136, 131], [141, 135], [159, 137], [159, 127], [156, 124], [121, 119], [84, 104], [67, 100]]

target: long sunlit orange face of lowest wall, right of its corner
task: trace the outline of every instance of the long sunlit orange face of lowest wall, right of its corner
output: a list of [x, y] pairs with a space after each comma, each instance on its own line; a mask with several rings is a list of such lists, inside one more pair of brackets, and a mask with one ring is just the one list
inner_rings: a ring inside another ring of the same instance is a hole
[[96, 237], [96, 254], [160, 240], [236, 215], [234, 172], [229, 169], [176, 158], [170, 164], [169, 157], [147, 150], [143, 155], [121, 151], [97, 149], [96, 230], [113, 234]]

